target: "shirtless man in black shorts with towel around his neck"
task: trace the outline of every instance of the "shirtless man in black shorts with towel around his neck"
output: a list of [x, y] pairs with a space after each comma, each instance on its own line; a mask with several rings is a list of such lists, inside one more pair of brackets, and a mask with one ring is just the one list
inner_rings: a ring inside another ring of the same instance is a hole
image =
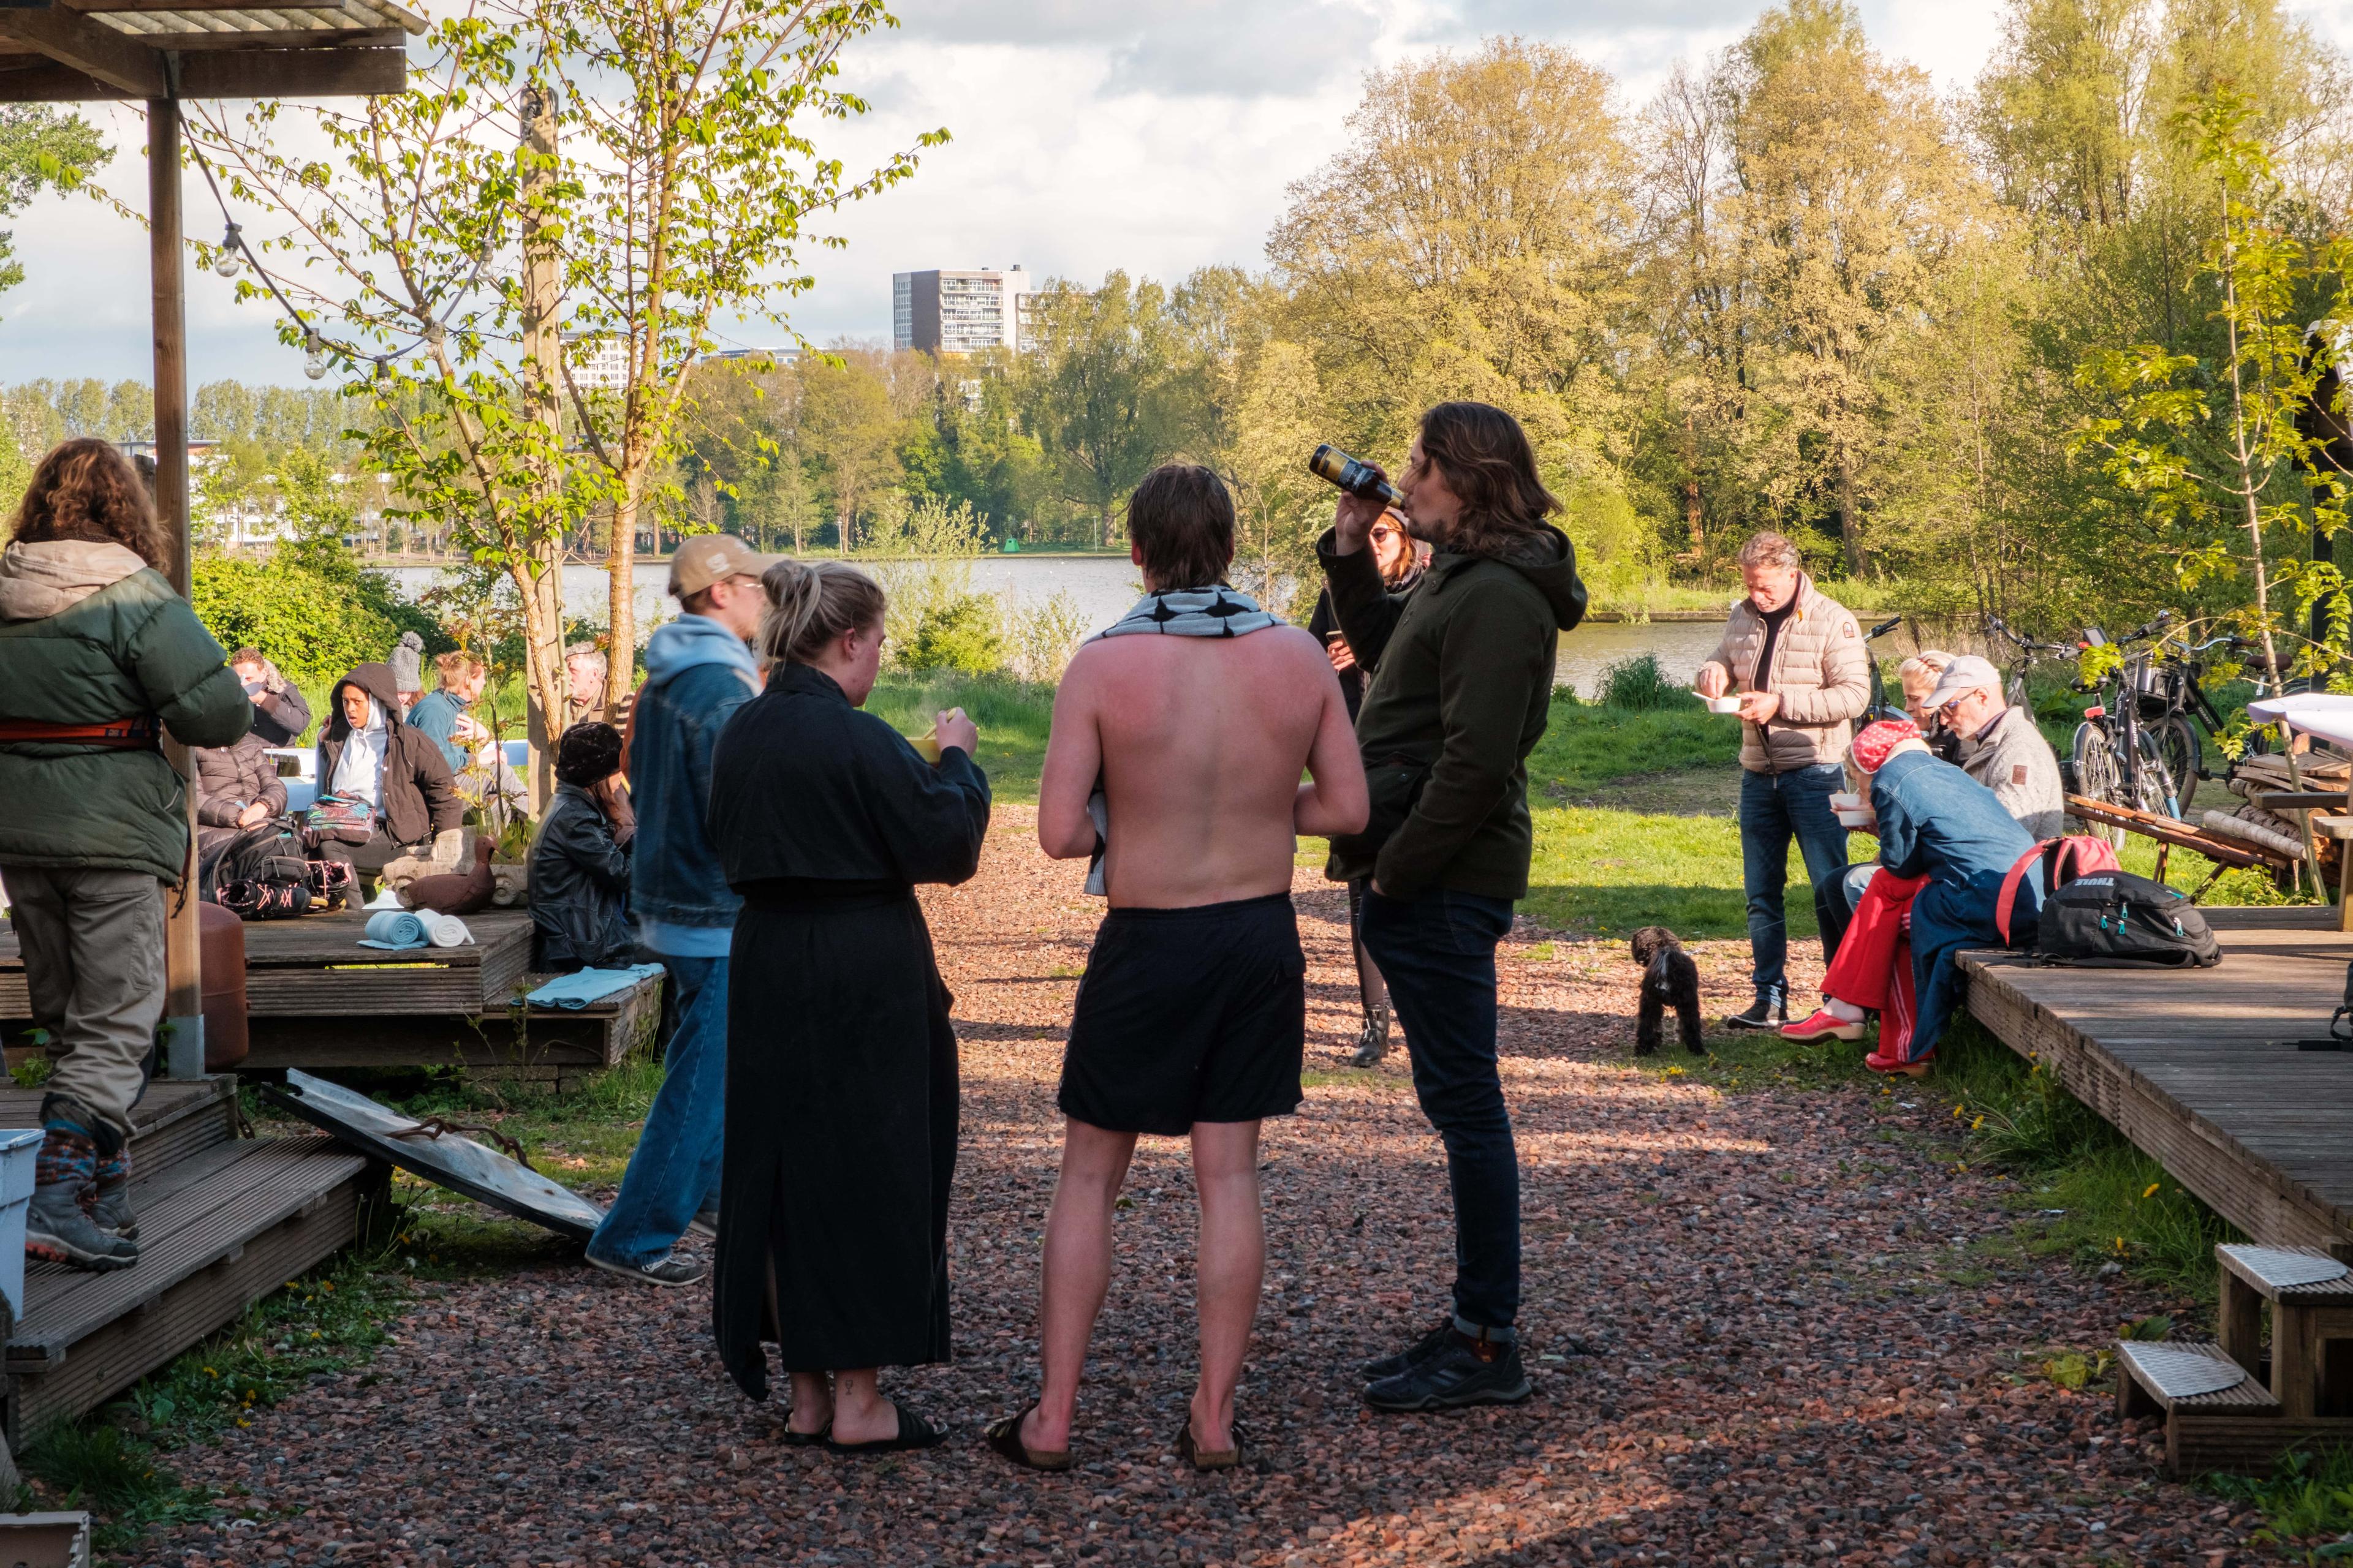
[[[1259, 1119], [1299, 1107], [1294, 835], [1362, 830], [1365, 769], [1322, 644], [1224, 588], [1224, 482], [1188, 463], [1155, 470], [1127, 503], [1127, 531], [1148, 595], [1071, 661], [1038, 788], [1038, 842], [1056, 860], [1101, 846], [1111, 914], [1061, 1067], [1042, 1389], [988, 1441], [1016, 1465], [1068, 1469], [1078, 1378], [1111, 1286], [1113, 1199], [1139, 1133], [1191, 1135], [1200, 1385], [1176, 1446], [1224, 1469], [1240, 1453], [1233, 1387], [1266, 1265]], [[1089, 813], [1096, 790], [1108, 844]]]

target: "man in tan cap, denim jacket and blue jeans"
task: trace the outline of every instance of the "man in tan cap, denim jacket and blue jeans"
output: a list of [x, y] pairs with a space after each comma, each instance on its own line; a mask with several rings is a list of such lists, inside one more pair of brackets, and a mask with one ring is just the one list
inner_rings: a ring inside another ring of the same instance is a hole
[[729, 534], [689, 538], [671, 557], [685, 611], [645, 644], [645, 691], [628, 748], [638, 811], [628, 910], [638, 943], [668, 971], [678, 1030], [661, 1093], [628, 1157], [621, 1194], [588, 1239], [588, 1262], [656, 1286], [689, 1286], [708, 1269], [671, 1248], [701, 1218], [718, 1222], [720, 1126], [727, 1086], [727, 947], [741, 898], [720, 872], [704, 811], [711, 748], [760, 689], [751, 635], [774, 562]]

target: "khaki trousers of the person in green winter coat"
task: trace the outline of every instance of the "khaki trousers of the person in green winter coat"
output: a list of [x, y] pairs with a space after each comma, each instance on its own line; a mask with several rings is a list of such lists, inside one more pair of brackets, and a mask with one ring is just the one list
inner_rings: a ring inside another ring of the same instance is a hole
[[129, 1138], [162, 1020], [162, 884], [144, 872], [7, 865], [9, 924], [33, 1023], [49, 1030], [42, 1086]]

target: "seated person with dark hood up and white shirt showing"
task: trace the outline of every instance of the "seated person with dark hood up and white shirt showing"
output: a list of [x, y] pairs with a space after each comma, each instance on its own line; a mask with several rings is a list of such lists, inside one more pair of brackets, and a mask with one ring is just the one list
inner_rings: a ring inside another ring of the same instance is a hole
[[440, 748], [400, 722], [393, 670], [381, 663], [355, 668], [327, 693], [327, 724], [318, 731], [318, 792], [322, 804], [332, 795], [348, 809], [348, 825], [320, 835], [320, 853], [348, 863], [369, 882], [466, 816]]

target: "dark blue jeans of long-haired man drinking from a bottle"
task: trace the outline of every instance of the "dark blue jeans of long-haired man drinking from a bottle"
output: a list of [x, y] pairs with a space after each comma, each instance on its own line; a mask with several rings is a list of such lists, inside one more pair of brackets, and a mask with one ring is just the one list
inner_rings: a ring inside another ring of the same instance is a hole
[[1480, 1328], [1520, 1314], [1520, 1152], [1494, 1065], [1494, 945], [1506, 931], [1504, 898], [1365, 891], [1365, 950], [1405, 1025], [1421, 1114], [1447, 1145], [1454, 1316]]

